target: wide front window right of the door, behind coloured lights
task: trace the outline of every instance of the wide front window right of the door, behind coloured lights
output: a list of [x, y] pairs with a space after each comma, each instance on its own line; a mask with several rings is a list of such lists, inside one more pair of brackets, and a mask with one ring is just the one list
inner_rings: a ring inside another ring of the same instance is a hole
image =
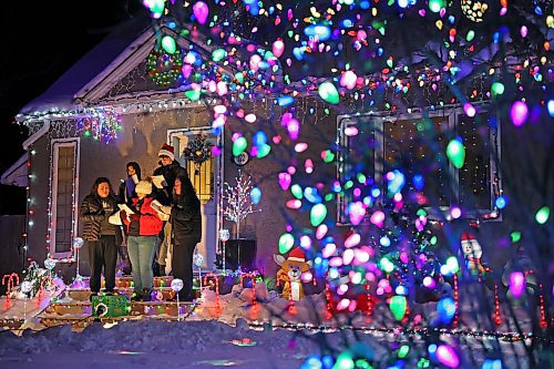
[[[450, 140], [462, 139], [465, 164], [456, 170], [447, 158]], [[338, 117], [338, 177], [345, 188], [359, 185], [360, 171], [370, 178], [359, 186], [383, 189], [382, 176], [396, 168], [413, 186], [416, 175], [423, 178], [424, 206], [445, 209], [459, 204], [469, 217], [496, 217], [494, 201], [500, 195], [500, 133], [495, 116], [481, 112], [473, 117], [460, 109], [411, 115], [342, 115]], [[360, 147], [363, 147], [360, 150]], [[356, 177], [351, 177], [356, 176]], [[338, 201], [338, 222], [348, 224], [352, 191]]]

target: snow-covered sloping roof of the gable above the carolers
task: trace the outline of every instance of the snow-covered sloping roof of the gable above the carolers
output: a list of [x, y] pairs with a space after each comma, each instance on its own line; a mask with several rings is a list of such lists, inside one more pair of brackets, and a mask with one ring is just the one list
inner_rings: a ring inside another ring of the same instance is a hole
[[20, 115], [75, 107], [75, 94], [110, 65], [144, 32], [152, 32], [146, 14], [140, 13], [120, 24], [89, 53], [70, 68], [44, 93], [24, 105]]

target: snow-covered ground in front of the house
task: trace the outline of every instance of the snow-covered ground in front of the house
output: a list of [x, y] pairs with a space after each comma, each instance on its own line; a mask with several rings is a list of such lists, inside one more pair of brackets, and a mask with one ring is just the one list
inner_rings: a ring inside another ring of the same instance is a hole
[[[144, 305], [144, 315], [116, 324], [94, 321], [81, 332], [74, 331], [70, 325], [45, 328], [29, 319], [28, 327], [31, 329], [21, 337], [9, 330], [0, 332], [0, 368], [299, 368], [310, 355], [321, 355], [320, 347], [325, 345], [319, 344], [324, 341], [335, 356], [355, 341], [362, 342], [358, 344], [358, 351], [373, 357], [377, 368], [388, 368], [398, 359], [394, 352], [399, 342], [409, 345], [412, 353], [424, 352], [429, 344], [425, 337], [404, 336], [400, 331], [363, 334], [341, 330], [324, 335], [274, 329], [271, 325], [320, 325], [326, 315], [324, 294], [302, 299], [296, 304], [295, 311], [290, 311], [287, 300], [267, 291], [263, 284], [256, 287], [259, 300], [256, 304], [253, 304], [250, 288], [235, 286], [230, 294], [223, 296], [207, 290], [205, 300], [197, 305], [193, 314], [188, 315], [188, 308], [183, 308], [186, 317], [183, 321], [175, 321], [175, 315], [170, 312], [148, 315], [148, 305]], [[59, 299], [62, 303], [65, 300], [66, 296]], [[9, 309], [4, 315], [21, 309], [21, 300], [14, 304], [14, 310]], [[28, 310], [30, 307], [38, 308], [32, 300], [25, 306]], [[373, 312], [371, 324], [363, 316], [351, 324], [356, 327], [383, 327], [383, 317], [389, 315], [387, 310], [386, 305], [380, 305]], [[419, 314], [429, 315], [433, 310], [434, 306], [430, 305]], [[32, 311], [35, 310], [28, 312]], [[256, 321], [266, 324], [252, 329]], [[324, 321], [326, 325], [334, 322]], [[462, 348], [458, 351], [461, 368], [481, 368], [483, 360], [490, 358], [486, 352], [502, 352], [503, 368], [527, 367], [521, 342], [482, 337], [441, 338]]]

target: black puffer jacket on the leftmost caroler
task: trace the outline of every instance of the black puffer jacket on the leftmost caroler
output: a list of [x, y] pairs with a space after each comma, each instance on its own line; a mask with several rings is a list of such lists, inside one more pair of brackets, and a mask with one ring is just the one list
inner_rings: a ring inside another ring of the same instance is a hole
[[[109, 196], [106, 199], [111, 202], [112, 208], [114, 209], [112, 214], [115, 214], [119, 209], [115, 197]], [[79, 216], [83, 222], [83, 239], [99, 240], [101, 236], [100, 232], [102, 229], [102, 221], [112, 214], [104, 213], [102, 201], [98, 195], [86, 195], [79, 209]], [[122, 240], [123, 236], [121, 234], [121, 227], [115, 226], [115, 244], [119, 246]]]

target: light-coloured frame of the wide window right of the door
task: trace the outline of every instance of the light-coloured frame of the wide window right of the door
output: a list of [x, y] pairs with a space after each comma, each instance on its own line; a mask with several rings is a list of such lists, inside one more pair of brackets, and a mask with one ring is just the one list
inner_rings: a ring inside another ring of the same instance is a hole
[[[479, 114], [488, 113], [488, 106], [482, 104], [473, 104], [478, 110]], [[348, 126], [358, 126], [360, 121], [369, 120], [375, 124], [375, 141], [376, 150], [373, 151], [373, 173], [375, 181], [379, 183], [379, 188], [384, 191], [384, 184], [382, 183], [382, 176], [384, 171], [384, 155], [386, 155], [386, 124], [393, 123], [396, 121], [406, 120], [421, 120], [421, 119], [435, 119], [445, 117], [447, 131], [453, 132], [454, 135], [459, 133], [459, 124], [461, 124], [461, 117], [466, 115], [461, 105], [449, 105], [440, 110], [424, 111], [421, 109], [412, 109], [411, 113], [391, 113], [391, 112], [369, 112], [365, 114], [341, 114], [337, 116], [337, 145], [340, 147], [339, 155], [337, 157], [337, 180], [342, 183], [342, 173], [349, 170], [349, 165], [346, 163], [347, 153], [349, 151], [349, 137], [345, 134], [345, 129]], [[497, 114], [495, 114], [497, 115]], [[500, 122], [496, 116], [496, 121]], [[490, 207], [489, 208], [478, 208], [471, 209], [463, 214], [464, 218], [468, 219], [479, 219], [479, 221], [502, 221], [502, 212], [495, 207], [495, 199], [499, 195], [503, 193], [502, 191], [502, 176], [500, 172], [501, 163], [501, 124], [497, 123], [495, 127], [490, 127], [489, 132], [489, 194], [490, 194]], [[434, 219], [450, 219], [449, 208], [450, 206], [460, 203], [460, 170], [455, 168], [450, 161], [448, 162], [448, 173], [452, 176], [452, 193], [453, 198], [447, 206], [428, 206], [424, 209], [429, 213], [431, 218]], [[351, 226], [346, 214], [347, 206], [349, 204], [348, 198], [342, 195], [337, 196], [337, 225]], [[367, 224], [365, 219], [362, 224]]]

